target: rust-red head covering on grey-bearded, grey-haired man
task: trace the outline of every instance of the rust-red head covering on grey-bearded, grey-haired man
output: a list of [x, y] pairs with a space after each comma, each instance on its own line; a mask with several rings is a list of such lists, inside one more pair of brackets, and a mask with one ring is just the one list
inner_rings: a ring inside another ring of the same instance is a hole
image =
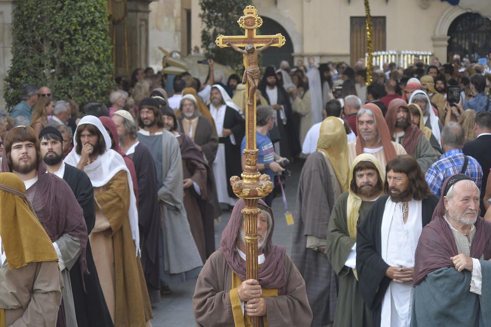
[[[390, 136], [389, 129], [385, 119], [383, 119], [382, 110], [379, 106], [373, 103], [367, 103], [361, 106], [361, 109], [370, 109], [375, 116], [375, 122], [377, 123], [377, 130], [379, 131], [379, 136], [382, 139], [383, 154], [385, 156], [385, 161], [388, 163], [390, 160], [397, 156], [396, 149], [391, 142], [392, 137]], [[356, 115], [356, 131], [358, 136], [356, 136], [356, 156], [363, 153], [363, 148], [365, 147], [365, 141], [361, 138], [359, 126], [358, 126], [358, 116]]]

